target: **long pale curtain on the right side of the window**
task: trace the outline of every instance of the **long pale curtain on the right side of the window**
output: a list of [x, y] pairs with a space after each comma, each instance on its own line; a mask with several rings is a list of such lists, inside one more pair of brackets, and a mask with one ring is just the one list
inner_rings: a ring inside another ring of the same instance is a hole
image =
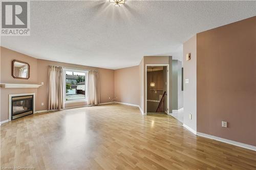
[[90, 70], [88, 72], [88, 105], [99, 104], [99, 72]]

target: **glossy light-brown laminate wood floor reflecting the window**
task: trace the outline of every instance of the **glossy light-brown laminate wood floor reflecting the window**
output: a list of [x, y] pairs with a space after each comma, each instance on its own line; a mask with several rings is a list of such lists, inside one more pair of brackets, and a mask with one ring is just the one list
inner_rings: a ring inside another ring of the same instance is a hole
[[256, 152], [120, 104], [38, 113], [1, 126], [1, 167], [256, 169]]

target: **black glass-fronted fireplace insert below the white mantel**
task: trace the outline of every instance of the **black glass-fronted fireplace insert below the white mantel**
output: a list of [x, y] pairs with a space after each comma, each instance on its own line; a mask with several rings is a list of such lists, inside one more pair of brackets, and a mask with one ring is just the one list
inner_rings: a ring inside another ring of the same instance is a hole
[[11, 119], [33, 114], [33, 95], [11, 97]]

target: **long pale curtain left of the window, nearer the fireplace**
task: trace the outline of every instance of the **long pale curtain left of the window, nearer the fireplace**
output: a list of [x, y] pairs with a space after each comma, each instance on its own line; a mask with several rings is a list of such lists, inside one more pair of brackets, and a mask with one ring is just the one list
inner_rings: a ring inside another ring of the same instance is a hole
[[64, 109], [64, 89], [62, 67], [49, 65], [49, 110]]

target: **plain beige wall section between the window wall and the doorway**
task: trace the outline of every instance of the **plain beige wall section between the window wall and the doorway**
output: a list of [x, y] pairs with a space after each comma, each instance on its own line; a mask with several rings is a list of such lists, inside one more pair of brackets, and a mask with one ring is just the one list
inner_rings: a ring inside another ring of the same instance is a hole
[[115, 101], [140, 105], [139, 66], [116, 69], [114, 80]]

